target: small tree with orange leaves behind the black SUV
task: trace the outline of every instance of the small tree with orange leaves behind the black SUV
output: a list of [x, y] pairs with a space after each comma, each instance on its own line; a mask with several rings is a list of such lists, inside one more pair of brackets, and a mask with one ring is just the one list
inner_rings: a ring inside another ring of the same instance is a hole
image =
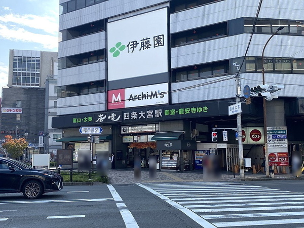
[[13, 159], [19, 159], [23, 154], [24, 149], [27, 147], [28, 142], [25, 138], [14, 138], [11, 135], [5, 136], [5, 143], [2, 144], [2, 147], [7, 150], [7, 153]]

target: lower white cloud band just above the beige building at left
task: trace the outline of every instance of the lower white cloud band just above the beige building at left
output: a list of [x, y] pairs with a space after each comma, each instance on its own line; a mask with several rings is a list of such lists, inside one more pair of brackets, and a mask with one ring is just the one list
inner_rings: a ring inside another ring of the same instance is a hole
[[0, 37], [11, 41], [38, 43], [44, 48], [54, 49], [58, 47], [58, 37], [47, 34], [37, 34], [24, 28], [8, 27], [0, 24]]

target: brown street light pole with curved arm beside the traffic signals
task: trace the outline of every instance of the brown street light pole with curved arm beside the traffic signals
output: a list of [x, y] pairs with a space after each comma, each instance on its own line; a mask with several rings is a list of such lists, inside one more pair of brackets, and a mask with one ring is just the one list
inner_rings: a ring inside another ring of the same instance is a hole
[[[272, 34], [268, 41], [266, 42], [263, 52], [262, 52], [262, 80], [263, 85], [265, 85], [265, 69], [264, 69], [264, 51], [272, 37], [277, 34], [280, 30], [282, 30], [284, 26], [280, 26], [277, 31]], [[265, 169], [266, 169], [266, 176], [269, 177], [269, 162], [268, 162], [268, 143], [267, 143], [267, 118], [266, 118], [266, 100], [263, 98], [263, 121], [264, 121], [264, 141], [265, 141]]]

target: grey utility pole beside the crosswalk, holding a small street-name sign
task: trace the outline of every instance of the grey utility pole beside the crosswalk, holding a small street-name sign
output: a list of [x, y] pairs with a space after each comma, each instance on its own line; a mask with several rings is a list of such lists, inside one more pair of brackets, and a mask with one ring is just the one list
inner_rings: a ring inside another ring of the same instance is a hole
[[[240, 78], [240, 64], [233, 63], [236, 66], [238, 72], [236, 73], [236, 104], [240, 103], [241, 96], [241, 78]], [[239, 142], [239, 165], [240, 165], [240, 177], [245, 178], [245, 167], [244, 167], [244, 155], [243, 155], [243, 142], [242, 142], [242, 119], [241, 113], [237, 116], [237, 130], [238, 130], [238, 142]]]

